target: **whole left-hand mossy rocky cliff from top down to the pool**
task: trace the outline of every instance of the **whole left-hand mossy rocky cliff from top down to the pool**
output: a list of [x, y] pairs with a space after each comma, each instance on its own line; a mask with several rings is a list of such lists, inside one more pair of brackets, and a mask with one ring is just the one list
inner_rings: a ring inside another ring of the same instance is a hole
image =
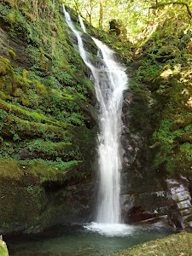
[[0, 230], [87, 221], [96, 97], [60, 5], [0, 1]]

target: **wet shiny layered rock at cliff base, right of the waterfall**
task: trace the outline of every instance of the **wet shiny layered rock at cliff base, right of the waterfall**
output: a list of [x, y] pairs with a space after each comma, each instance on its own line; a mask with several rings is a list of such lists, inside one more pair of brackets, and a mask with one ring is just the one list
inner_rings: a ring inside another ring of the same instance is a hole
[[157, 229], [192, 230], [189, 180], [167, 179], [166, 189], [121, 195], [122, 218], [128, 224], [147, 224]]

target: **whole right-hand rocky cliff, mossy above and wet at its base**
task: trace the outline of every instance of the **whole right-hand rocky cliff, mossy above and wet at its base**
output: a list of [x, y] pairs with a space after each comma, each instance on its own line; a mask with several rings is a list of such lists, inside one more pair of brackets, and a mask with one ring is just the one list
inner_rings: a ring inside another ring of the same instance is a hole
[[126, 223], [192, 229], [190, 44], [189, 26], [170, 20], [132, 49], [122, 134]]

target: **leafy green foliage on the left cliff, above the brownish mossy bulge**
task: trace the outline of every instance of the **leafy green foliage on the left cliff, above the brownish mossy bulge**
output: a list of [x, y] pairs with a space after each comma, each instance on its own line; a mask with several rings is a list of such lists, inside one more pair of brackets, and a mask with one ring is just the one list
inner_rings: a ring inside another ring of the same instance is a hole
[[[13, 166], [13, 160], [32, 170], [39, 166], [42, 183], [50, 173], [52, 180], [58, 181], [58, 172], [59, 178], [67, 174], [67, 178], [84, 179], [87, 173], [76, 170], [84, 160], [84, 146], [79, 146], [81, 141], [74, 138], [79, 135], [69, 128], [84, 127], [89, 133], [84, 125], [84, 119], [88, 124], [88, 113], [85, 118], [82, 106], [88, 106], [94, 88], [84, 79], [87, 68], [67, 37], [60, 3], [55, 4], [53, 19], [49, 14], [53, 6], [48, 3], [35, 10], [27, 0], [18, 6], [11, 1], [0, 2], [0, 13], [9, 34], [26, 44], [25, 54], [31, 64], [27, 62], [26, 69], [14, 68], [0, 56], [0, 156]], [[13, 59], [16, 50], [9, 49]], [[87, 140], [94, 137], [92, 134]], [[85, 139], [84, 145], [89, 148], [87, 143]], [[32, 175], [35, 173], [38, 171], [32, 171]], [[26, 186], [26, 192], [34, 196], [37, 189], [36, 185]]]

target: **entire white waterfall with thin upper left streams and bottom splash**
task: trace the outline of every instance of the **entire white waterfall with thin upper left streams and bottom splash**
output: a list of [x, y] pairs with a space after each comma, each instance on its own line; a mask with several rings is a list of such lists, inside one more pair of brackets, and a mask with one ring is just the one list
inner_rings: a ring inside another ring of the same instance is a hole
[[[79, 32], [74, 26], [70, 15], [63, 5], [68, 26], [78, 39], [79, 53], [84, 63], [90, 67], [94, 78], [97, 101], [100, 104], [100, 134], [98, 136], [99, 155], [99, 203], [96, 223], [86, 226], [106, 235], [130, 233], [131, 229], [121, 224], [119, 206], [121, 160], [119, 154], [119, 138], [121, 133], [121, 109], [123, 91], [126, 89], [127, 76], [124, 68], [113, 59], [113, 51], [108, 49], [96, 38], [92, 38], [102, 58], [102, 67], [95, 67], [89, 60], [89, 54], [84, 50], [84, 44]], [[83, 31], [84, 22], [79, 16]], [[103, 79], [105, 78], [105, 79]]]

